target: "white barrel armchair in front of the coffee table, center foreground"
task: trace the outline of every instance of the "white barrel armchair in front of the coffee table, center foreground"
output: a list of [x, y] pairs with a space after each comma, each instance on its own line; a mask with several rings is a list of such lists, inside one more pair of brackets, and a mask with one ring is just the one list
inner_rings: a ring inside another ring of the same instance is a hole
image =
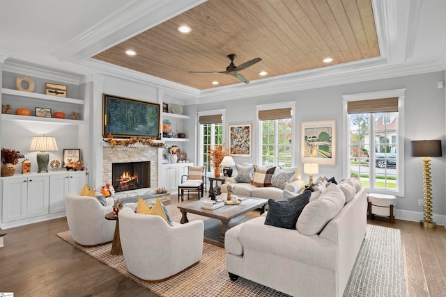
[[138, 278], [157, 282], [200, 261], [202, 220], [171, 227], [160, 216], [136, 214], [129, 208], [119, 211], [118, 218], [125, 264]]

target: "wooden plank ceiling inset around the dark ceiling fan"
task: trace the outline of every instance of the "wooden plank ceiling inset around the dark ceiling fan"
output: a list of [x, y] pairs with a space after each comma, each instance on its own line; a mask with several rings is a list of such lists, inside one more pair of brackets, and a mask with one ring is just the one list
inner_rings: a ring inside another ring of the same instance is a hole
[[[192, 32], [179, 33], [184, 24]], [[209, 0], [93, 58], [202, 90], [240, 83], [189, 73], [224, 71], [228, 54], [262, 59], [240, 72], [250, 81], [379, 56], [371, 0]]]

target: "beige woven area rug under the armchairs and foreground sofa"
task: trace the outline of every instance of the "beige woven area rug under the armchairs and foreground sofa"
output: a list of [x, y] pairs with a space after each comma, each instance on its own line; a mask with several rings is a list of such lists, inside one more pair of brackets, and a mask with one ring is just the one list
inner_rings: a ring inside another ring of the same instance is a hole
[[[173, 220], [178, 222], [180, 216], [175, 208], [168, 206]], [[188, 218], [203, 217], [188, 215]], [[72, 240], [69, 231], [57, 235], [159, 296], [288, 296], [244, 278], [232, 282], [226, 271], [224, 249], [209, 243], [203, 243], [203, 257], [199, 264], [164, 282], [148, 283], [128, 272], [123, 256], [110, 254], [112, 243], [85, 248]], [[344, 296], [406, 296], [399, 230], [367, 225], [367, 236]]]

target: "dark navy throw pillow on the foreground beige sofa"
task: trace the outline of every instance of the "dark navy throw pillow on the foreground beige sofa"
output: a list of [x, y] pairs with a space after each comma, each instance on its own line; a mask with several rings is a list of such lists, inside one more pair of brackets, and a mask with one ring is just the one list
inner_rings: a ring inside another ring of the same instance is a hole
[[279, 228], [295, 229], [295, 224], [309, 202], [311, 191], [286, 200], [268, 200], [268, 212], [266, 214], [265, 225]]

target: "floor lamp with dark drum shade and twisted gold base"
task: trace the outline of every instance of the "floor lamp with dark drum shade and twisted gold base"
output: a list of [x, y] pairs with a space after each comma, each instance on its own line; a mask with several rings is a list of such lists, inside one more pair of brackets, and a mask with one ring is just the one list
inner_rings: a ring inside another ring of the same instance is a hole
[[431, 159], [429, 156], [441, 156], [441, 141], [411, 141], [412, 156], [424, 156], [424, 220], [420, 225], [434, 229], [437, 224], [432, 220], [432, 191], [431, 191]]

